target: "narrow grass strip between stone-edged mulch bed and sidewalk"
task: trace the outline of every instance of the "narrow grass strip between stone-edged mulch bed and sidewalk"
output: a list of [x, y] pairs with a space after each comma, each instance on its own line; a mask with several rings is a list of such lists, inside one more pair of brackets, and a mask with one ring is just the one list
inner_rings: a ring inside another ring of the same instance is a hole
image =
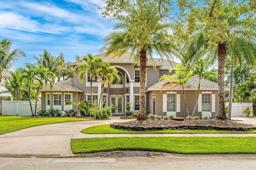
[[114, 129], [110, 125], [98, 125], [88, 127], [81, 131], [90, 134], [118, 134], [118, 133], [256, 133], [253, 131], [217, 131], [217, 130], [158, 130], [158, 131], [129, 131], [122, 129]]

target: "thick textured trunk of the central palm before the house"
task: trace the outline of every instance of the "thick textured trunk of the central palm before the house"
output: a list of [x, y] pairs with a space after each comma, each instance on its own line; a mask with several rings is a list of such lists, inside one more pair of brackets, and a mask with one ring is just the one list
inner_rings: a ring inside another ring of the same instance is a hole
[[140, 114], [137, 120], [146, 120], [145, 96], [146, 96], [146, 64], [147, 52], [145, 47], [140, 50]]

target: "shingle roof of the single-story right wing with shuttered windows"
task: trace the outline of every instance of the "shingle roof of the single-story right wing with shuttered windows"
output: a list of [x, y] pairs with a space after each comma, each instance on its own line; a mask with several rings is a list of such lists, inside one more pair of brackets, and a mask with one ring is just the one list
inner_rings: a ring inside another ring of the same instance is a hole
[[[197, 90], [198, 89], [198, 81], [199, 81], [198, 76], [193, 76], [192, 78], [190, 78], [188, 80], [188, 83], [185, 84], [185, 90]], [[162, 86], [164, 84], [166, 84], [167, 82], [171, 82], [171, 81], [164, 79], [161, 82], [158, 82], [158, 83], [154, 84], [153, 86], [151, 86], [150, 88], [148, 88], [146, 90], [146, 92], [152, 91], [152, 90], [160, 90], [162, 88]], [[181, 86], [177, 86], [177, 87], [168, 86], [168, 87], [163, 88], [163, 90], [182, 90], [182, 87]], [[201, 83], [200, 83], [200, 90], [218, 90], [218, 83], [202, 78]], [[225, 86], [225, 90], [229, 90], [229, 87]]]

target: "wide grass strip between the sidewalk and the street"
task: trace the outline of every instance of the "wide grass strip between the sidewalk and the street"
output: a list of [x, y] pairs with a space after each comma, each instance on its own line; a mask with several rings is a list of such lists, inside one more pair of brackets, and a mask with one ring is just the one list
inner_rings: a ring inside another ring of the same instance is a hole
[[147, 150], [178, 154], [256, 154], [256, 137], [108, 137], [72, 139], [74, 154]]

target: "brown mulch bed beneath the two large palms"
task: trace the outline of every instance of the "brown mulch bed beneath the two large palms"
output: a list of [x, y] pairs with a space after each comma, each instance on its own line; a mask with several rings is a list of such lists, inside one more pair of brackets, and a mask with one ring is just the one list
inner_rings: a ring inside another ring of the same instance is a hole
[[145, 121], [128, 121], [128, 122], [118, 122], [119, 125], [132, 125], [132, 126], [142, 126], [142, 127], [159, 127], [168, 125], [213, 125], [219, 127], [253, 127], [251, 124], [238, 123], [235, 120], [217, 120], [217, 119], [185, 119], [184, 121], [177, 120], [164, 120], [164, 119], [147, 119]]

